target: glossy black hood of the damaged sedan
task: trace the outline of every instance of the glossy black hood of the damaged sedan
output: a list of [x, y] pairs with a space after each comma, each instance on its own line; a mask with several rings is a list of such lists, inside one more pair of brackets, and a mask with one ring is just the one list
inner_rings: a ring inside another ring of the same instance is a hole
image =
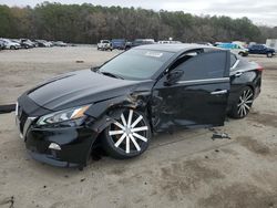
[[114, 79], [83, 70], [54, 77], [27, 94], [38, 105], [60, 111], [126, 94], [141, 82]]

